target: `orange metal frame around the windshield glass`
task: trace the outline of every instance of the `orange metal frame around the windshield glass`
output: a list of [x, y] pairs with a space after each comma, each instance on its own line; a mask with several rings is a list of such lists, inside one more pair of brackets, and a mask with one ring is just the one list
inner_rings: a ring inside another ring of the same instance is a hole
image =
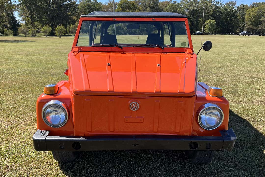
[[[161, 50], [160, 48], [146, 48], [146, 47], [123, 47], [122, 49], [117, 48], [117, 47], [91, 47], [91, 46], [77, 46], [77, 41], [78, 41], [78, 36], [81, 31], [81, 25], [83, 21], [184, 21], [186, 30], [187, 30], [187, 37], [188, 37], [188, 42], [189, 42], [189, 47], [187, 48], [165, 48], [164, 50]], [[188, 19], [187, 18], [98, 18], [98, 17], [81, 17], [80, 21], [78, 23], [76, 35], [74, 37], [74, 42], [73, 42], [73, 48], [78, 47], [80, 51], [106, 51], [106, 52], [176, 52], [176, 53], [185, 53], [187, 49], [191, 49], [193, 51], [193, 46], [192, 46], [192, 40], [191, 40], [191, 34], [189, 31], [189, 24], [188, 24]]]

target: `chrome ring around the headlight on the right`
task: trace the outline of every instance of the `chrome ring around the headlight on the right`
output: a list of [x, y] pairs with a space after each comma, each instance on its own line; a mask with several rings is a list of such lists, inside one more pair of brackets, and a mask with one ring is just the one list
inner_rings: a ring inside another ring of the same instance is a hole
[[[216, 125], [215, 127], [213, 127], [213, 128], [205, 127], [205, 126], [202, 124], [202, 122], [201, 122], [201, 114], [202, 114], [206, 109], [209, 109], [209, 108], [214, 108], [214, 109], [220, 111], [221, 116], [222, 116], [220, 123], [217, 124], [217, 125]], [[216, 128], [218, 128], [218, 127], [223, 123], [223, 120], [224, 120], [224, 113], [223, 113], [222, 109], [220, 108], [220, 106], [218, 106], [217, 104], [214, 104], [214, 103], [206, 103], [206, 104], [202, 105], [201, 110], [200, 110], [200, 112], [199, 112], [199, 114], [198, 114], [198, 123], [199, 123], [199, 125], [200, 125], [202, 128], [204, 128], [204, 129], [206, 129], [206, 130], [213, 130], [213, 129], [216, 129]]]

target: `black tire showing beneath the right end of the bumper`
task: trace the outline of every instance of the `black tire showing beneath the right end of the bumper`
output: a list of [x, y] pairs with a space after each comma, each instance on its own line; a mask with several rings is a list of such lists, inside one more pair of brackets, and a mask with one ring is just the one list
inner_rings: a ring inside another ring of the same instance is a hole
[[213, 159], [215, 151], [186, 151], [185, 153], [193, 163], [209, 163]]

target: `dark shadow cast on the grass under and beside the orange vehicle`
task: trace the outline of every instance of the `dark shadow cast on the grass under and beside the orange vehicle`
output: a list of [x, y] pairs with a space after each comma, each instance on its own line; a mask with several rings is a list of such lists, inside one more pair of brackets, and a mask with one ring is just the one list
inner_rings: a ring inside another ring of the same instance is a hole
[[265, 137], [230, 110], [237, 135], [232, 152], [217, 152], [209, 164], [193, 164], [184, 152], [167, 150], [82, 152], [59, 163], [67, 176], [265, 176]]

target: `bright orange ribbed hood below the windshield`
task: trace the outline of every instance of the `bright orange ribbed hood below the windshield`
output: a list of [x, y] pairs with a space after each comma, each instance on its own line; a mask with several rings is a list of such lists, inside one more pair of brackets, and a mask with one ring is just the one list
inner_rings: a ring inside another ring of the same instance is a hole
[[196, 55], [69, 53], [69, 80], [78, 95], [194, 96]]

